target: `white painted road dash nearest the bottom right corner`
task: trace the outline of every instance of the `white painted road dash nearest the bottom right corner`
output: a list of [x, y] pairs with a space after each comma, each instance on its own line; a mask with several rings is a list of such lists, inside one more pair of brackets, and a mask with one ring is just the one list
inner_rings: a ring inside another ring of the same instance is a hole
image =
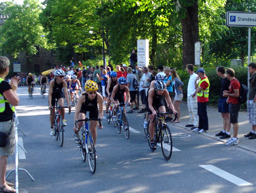
[[200, 167], [203, 167], [205, 170], [208, 170], [210, 172], [212, 172], [213, 174], [218, 175], [221, 178], [226, 179], [229, 182], [232, 182], [234, 184], [236, 184], [237, 186], [250, 186], [252, 185], [249, 182], [244, 181], [241, 178], [238, 178], [224, 170], [219, 169], [218, 167], [215, 167], [213, 165], [199, 165]]

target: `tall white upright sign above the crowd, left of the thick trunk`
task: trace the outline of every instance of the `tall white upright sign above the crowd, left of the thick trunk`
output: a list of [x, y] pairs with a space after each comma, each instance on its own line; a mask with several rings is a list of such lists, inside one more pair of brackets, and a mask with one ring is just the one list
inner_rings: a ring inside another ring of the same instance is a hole
[[137, 40], [138, 67], [148, 66], [149, 63], [149, 41]]

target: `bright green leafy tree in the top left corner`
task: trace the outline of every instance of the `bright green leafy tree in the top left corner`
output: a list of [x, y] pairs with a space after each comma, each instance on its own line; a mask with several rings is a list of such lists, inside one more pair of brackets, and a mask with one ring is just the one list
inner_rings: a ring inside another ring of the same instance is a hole
[[6, 11], [9, 18], [1, 28], [2, 48], [6, 54], [17, 57], [24, 52], [27, 60], [27, 70], [30, 70], [30, 54], [37, 51], [36, 45], [48, 48], [46, 39], [42, 37], [43, 27], [39, 22], [40, 4], [35, 0], [24, 0], [22, 6], [10, 5]]

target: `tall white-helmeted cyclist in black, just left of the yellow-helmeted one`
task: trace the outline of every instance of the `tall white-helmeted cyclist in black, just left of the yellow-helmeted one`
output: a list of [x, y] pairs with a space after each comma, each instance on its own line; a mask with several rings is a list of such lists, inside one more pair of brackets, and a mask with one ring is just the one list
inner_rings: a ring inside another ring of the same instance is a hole
[[[71, 109], [69, 98], [68, 98], [68, 87], [67, 82], [64, 81], [65, 72], [63, 70], [55, 70], [54, 72], [55, 78], [49, 83], [49, 93], [48, 93], [48, 103], [49, 103], [49, 110], [51, 110], [50, 115], [50, 122], [51, 122], [51, 136], [54, 136], [54, 129], [53, 129], [53, 122], [55, 116], [55, 99], [59, 106], [64, 106], [64, 99], [63, 95], [65, 94], [65, 98], [68, 103], [68, 108]], [[64, 90], [64, 94], [63, 94]], [[65, 117], [65, 108], [61, 108], [60, 111], [61, 117], [63, 119], [63, 126], [67, 125], [67, 120], [64, 119]]]

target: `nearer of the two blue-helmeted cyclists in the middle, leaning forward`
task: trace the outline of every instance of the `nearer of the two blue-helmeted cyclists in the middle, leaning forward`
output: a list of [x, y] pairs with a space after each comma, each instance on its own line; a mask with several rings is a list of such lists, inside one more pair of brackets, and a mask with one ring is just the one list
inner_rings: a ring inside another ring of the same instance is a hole
[[125, 102], [125, 96], [124, 96], [125, 93], [126, 93], [126, 97], [127, 97], [127, 103], [130, 103], [129, 89], [127, 86], [125, 86], [125, 84], [126, 84], [125, 77], [118, 78], [118, 85], [115, 85], [114, 89], [112, 91], [110, 100], [112, 103], [115, 104], [115, 106], [113, 107], [114, 108], [113, 119], [115, 119], [115, 111], [118, 108], [118, 106], [116, 104]]

